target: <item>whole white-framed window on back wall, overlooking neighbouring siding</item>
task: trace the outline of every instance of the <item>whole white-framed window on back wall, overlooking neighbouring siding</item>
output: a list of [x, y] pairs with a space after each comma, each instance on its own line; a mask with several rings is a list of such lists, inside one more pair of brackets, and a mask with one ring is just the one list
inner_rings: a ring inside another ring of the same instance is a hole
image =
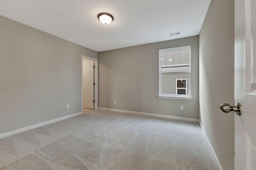
[[159, 98], [191, 100], [191, 46], [159, 50]]

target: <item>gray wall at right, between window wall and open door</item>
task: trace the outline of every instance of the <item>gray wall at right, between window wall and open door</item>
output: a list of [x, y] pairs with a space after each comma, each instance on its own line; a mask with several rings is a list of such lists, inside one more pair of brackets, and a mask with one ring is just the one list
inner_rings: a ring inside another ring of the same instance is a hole
[[234, 169], [234, 0], [212, 0], [199, 35], [200, 121], [223, 170]]

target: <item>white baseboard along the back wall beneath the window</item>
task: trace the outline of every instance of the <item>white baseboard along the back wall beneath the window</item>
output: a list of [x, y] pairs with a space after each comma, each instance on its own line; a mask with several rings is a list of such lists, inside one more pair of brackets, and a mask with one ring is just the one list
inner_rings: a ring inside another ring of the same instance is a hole
[[153, 117], [162, 117], [162, 118], [168, 118], [168, 119], [176, 119], [176, 120], [184, 120], [184, 121], [192, 121], [192, 122], [199, 122], [198, 119], [192, 119], [192, 118], [186, 118], [186, 117], [177, 117], [177, 116], [169, 116], [169, 115], [159, 115], [154, 113], [144, 113], [144, 112], [138, 112], [138, 111], [128, 111], [128, 110], [118, 110], [118, 109], [108, 109], [99, 107], [100, 110], [107, 110], [107, 111], [117, 111], [121, 113], [131, 113], [136, 115], [144, 115], [144, 116], [153, 116]]

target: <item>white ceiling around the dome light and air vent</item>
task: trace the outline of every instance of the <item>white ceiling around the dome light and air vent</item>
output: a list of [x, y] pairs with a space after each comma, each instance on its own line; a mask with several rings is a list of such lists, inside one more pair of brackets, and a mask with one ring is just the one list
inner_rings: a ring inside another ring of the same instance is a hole
[[[95, 51], [198, 35], [210, 0], [0, 0], [0, 15]], [[114, 16], [109, 25], [97, 15]], [[181, 31], [180, 35], [168, 33]]]

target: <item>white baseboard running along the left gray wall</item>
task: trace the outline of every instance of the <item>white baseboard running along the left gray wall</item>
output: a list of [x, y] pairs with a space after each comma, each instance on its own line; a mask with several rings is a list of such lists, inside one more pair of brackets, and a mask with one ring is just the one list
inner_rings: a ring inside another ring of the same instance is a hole
[[2, 134], [0, 134], [0, 139], [2, 139], [2, 138], [4, 138], [4, 137], [11, 136], [11, 135], [15, 135], [15, 134], [17, 134], [17, 133], [21, 133], [21, 132], [24, 132], [24, 131], [28, 131], [28, 130], [31, 130], [31, 129], [35, 129], [35, 128], [40, 127], [40, 126], [48, 125], [48, 124], [54, 123], [54, 122], [56, 122], [56, 121], [68, 119], [68, 118], [70, 118], [70, 117], [74, 117], [74, 116], [77, 116], [77, 115], [80, 115], [80, 114], [82, 114], [82, 112], [75, 113], [75, 114], [72, 114], [72, 115], [67, 115], [67, 116], [60, 117], [60, 118], [57, 118], [57, 119], [53, 119], [53, 120], [50, 120], [50, 121], [45, 121], [45, 122], [42, 122], [42, 123], [38, 123], [38, 124], [36, 124], [36, 125], [31, 125], [31, 126], [28, 126], [28, 127], [24, 127], [24, 128], [21, 128], [21, 129], [14, 130], [14, 131], [2, 133]]

